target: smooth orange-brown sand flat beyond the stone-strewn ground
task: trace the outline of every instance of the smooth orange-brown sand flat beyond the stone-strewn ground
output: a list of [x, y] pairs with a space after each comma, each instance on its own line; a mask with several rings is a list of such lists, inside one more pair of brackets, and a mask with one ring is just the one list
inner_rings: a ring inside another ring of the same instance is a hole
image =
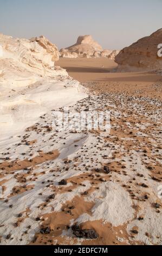
[[[82, 84], [94, 85], [94, 91], [127, 92], [128, 94], [150, 95], [161, 98], [161, 91], [152, 88], [160, 82], [161, 75], [148, 71], [118, 71], [114, 60], [102, 58], [60, 58], [56, 65], [66, 69], [68, 74]], [[138, 93], [138, 90], [140, 92]], [[142, 92], [141, 92], [142, 90]]]

